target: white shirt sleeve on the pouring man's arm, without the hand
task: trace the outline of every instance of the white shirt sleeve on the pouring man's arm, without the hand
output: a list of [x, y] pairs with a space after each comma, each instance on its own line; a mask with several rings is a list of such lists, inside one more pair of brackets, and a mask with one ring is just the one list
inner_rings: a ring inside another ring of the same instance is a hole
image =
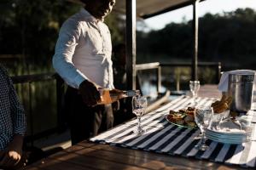
[[87, 79], [72, 62], [73, 54], [79, 43], [82, 31], [78, 21], [67, 20], [62, 26], [55, 46], [52, 63], [55, 71], [73, 88]]

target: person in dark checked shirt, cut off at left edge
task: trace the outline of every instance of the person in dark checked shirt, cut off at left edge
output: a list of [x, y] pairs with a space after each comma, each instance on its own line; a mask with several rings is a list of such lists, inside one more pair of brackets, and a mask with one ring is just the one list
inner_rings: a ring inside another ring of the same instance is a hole
[[7, 71], [0, 65], [0, 168], [14, 168], [22, 156], [26, 116]]

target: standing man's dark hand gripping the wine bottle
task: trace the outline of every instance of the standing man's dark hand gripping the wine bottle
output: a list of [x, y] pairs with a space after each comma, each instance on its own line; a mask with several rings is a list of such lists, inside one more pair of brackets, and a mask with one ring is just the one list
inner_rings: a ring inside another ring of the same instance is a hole
[[96, 105], [97, 101], [101, 99], [98, 88], [100, 87], [96, 85], [95, 82], [90, 82], [89, 80], [84, 80], [84, 82], [81, 82], [79, 85], [79, 94], [82, 95], [86, 105]]

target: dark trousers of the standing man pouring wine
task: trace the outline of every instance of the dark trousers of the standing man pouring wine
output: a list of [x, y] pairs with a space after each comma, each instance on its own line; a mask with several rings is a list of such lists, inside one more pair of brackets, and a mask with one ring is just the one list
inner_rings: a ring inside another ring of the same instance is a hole
[[77, 144], [113, 127], [112, 106], [85, 105], [82, 96], [75, 88], [67, 88], [64, 105], [72, 144]]

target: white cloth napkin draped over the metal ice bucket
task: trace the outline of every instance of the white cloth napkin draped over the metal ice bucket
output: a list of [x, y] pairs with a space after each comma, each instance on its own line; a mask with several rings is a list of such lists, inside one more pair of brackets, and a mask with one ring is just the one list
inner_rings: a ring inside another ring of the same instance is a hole
[[230, 74], [254, 74], [254, 79], [253, 79], [253, 83], [254, 85], [256, 84], [256, 77], [255, 77], [255, 74], [256, 71], [251, 71], [251, 70], [236, 70], [236, 71], [225, 71], [221, 78], [220, 78], [220, 81], [218, 82], [218, 90], [221, 91], [221, 92], [227, 92], [228, 91], [228, 88], [229, 88], [229, 75]]

